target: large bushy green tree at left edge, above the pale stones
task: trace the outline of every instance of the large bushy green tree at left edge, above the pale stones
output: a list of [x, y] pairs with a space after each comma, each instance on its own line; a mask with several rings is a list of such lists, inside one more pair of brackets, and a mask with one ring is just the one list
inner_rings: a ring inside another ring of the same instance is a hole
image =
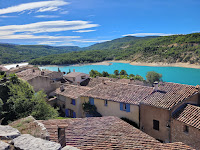
[[57, 110], [46, 103], [46, 95], [12, 74], [0, 78], [0, 119], [3, 124], [32, 115], [36, 119], [49, 119], [58, 116]]

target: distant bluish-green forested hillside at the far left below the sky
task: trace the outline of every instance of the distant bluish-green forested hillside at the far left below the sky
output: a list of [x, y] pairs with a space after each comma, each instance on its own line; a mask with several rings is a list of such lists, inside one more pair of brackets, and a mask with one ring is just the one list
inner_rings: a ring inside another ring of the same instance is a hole
[[53, 47], [44, 45], [0, 44], [0, 64], [27, 62], [41, 56], [80, 50], [77, 46]]

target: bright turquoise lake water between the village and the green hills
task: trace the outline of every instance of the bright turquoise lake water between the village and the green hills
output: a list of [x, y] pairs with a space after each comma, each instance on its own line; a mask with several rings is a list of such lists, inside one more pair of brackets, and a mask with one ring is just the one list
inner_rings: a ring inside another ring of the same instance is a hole
[[[43, 66], [41, 69], [58, 71], [58, 66]], [[76, 72], [89, 73], [94, 69], [99, 72], [107, 71], [108, 73], [114, 70], [126, 70], [128, 74], [138, 74], [146, 79], [148, 71], [155, 71], [163, 75], [162, 79], [166, 82], [174, 82], [188, 85], [200, 84], [200, 69], [183, 68], [183, 67], [152, 67], [152, 66], [133, 66], [128, 63], [112, 63], [110, 66], [105, 65], [82, 65], [82, 66], [59, 66], [62, 72], [68, 72], [69, 69]]]

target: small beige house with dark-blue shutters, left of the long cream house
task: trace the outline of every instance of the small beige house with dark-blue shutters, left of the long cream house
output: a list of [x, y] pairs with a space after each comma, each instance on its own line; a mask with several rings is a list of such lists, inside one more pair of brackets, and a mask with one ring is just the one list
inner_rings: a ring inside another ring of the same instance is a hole
[[83, 110], [80, 95], [88, 90], [90, 90], [89, 87], [68, 84], [56, 89], [56, 103], [65, 112], [66, 117], [82, 117]]

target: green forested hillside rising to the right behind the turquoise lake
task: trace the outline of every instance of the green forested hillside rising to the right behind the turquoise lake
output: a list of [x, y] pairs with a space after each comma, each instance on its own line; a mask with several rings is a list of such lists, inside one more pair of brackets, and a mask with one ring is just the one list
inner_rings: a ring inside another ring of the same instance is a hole
[[37, 58], [30, 63], [46, 65], [130, 60], [149, 63], [189, 62], [200, 64], [200, 33], [156, 38], [124, 37], [84, 49], [85, 51]]

